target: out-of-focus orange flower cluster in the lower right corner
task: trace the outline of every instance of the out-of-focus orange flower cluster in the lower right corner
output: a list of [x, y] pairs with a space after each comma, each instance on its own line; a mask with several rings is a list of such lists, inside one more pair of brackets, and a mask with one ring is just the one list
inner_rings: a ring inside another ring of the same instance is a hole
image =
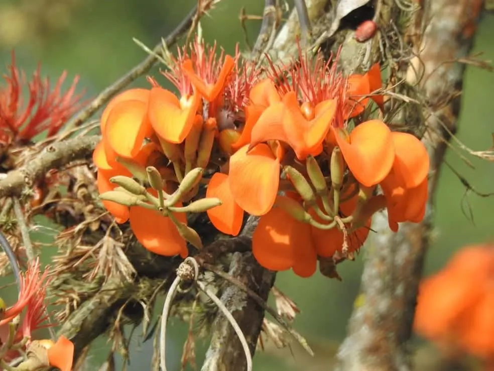
[[415, 331], [450, 354], [494, 359], [494, 248], [460, 250], [419, 288]]

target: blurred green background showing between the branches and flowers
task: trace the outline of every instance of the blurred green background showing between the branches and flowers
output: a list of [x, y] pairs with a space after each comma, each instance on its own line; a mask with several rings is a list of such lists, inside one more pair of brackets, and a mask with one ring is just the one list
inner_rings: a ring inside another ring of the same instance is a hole
[[[15, 49], [17, 64], [28, 75], [39, 61], [43, 73], [51, 76], [52, 80], [66, 69], [69, 79], [79, 74], [79, 90], [84, 88], [88, 98], [94, 97], [145, 57], [144, 51], [132, 41], [133, 37], [154, 46], [178, 24], [194, 3], [194, 0], [2, 0], [0, 70], [5, 70], [10, 63], [11, 50]], [[245, 7], [246, 13], [259, 16], [263, 3], [262, 0], [221, 1], [210, 12], [210, 17], [201, 21], [204, 38], [211, 42], [216, 40], [227, 52], [232, 52], [237, 42], [243, 47], [245, 38], [238, 19], [240, 9]], [[246, 26], [248, 38], [255, 40], [260, 21], [249, 21]], [[485, 15], [473, 52], [483, 52], [483, 59], [494, 59], [493, 35], [494, 16]], [[151, 74], [160, 83], [165, 83], [157, 69]], [[140, 78], [134, 85], [147, 86], [147, 82]], [[458, 138], [474, 150], [492, 146], [492, 86], [492, 73], [467, 67]], [[467, 166], [452, 150], [447, 161], [478, 191], [494, 191], [493, 164], [467, 157], [475, 168]], [[473, 222], [462, 212], [468, 207], [473, 212]], [[436, 230], [427, 257], [426, 274], [439, 269], [465, 244], [494, 237], [493, 211], [494, 198], [480, 198], [472, 193], [465, 195], [465, 188], [457, 176], [444, 167], [437, 193]], [[49, 229], [40, 228], [33, 237], [47, 239], [52, 235]], [[297, 345], [293, 346], [291, 353], [290, 349], [279, 351], [267, 344], [266, 351], [260, 351], [256, 356], [257, 371], [328, 368], [327, 362], [345, 335], [346, 321], [358, 291], [364, 254], [365, 249], [355, 262], [342, 264], [339, 273], [343, 282], [328, 280], [320, 274], [307, 280], [296, 278], [291, 273], [278, 275], [277, 286], [299, 304], [302, 312], [297, 316], [295, 327], [308, 338], [317, 355], [310, 359]], [[173, 323], [169, 345], [172, 370], [179, 369], [177, 362], [185, 340], [184, 330], [183, 324]], [[151, 341], [140, 344], [136, 335], [133, 342], [128, 369], [146, 369], [151, 361]], [[199, 367], [203, 349], [199, 347], [197, 350]], [[92, 353], [95, 365], [106, 357], [104, 339], [95, 344]]]

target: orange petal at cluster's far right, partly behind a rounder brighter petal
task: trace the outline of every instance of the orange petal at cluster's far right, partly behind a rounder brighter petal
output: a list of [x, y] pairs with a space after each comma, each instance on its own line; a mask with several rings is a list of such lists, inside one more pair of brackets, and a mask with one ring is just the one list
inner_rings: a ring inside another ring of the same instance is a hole
[[412, 134], [393, 132], [395, 161], [393, 168], [406, 188], [421, 184], [429, 172], [429, 154], [424, 144]]

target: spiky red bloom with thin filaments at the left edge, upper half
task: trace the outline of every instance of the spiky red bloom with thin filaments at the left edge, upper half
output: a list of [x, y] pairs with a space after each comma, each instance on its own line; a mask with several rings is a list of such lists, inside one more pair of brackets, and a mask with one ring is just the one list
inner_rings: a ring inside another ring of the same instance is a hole
[[[65, 122], [77, 112], [82, 103], [82, 93], [74, 95], [79, 76], [75, 76], [71, 86], [62, 94], [62, 84], [67, 77], [64, 71], [51, 88], [48, 78], [42, 78], [40, 66], [31, 81], [26, 82], [26, 75], [16, 67], [16, 58], [12, 52], [9, 74], [4, 75], [7, 82], [0, 87], [0, 143], [30, 142], [36, 135], [47, 132], [48, 136], [56, 134]], [[22, 98], [28, 87], [28, 100]]]

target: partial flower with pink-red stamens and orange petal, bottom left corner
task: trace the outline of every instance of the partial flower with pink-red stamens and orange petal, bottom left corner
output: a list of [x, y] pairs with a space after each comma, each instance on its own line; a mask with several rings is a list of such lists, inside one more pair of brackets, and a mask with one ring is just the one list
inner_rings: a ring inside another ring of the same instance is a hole
[[[32, 332], [46, 327], [46, 286], [48, 271], [40, 270], [39, 259], [30, 263], [21, 274], [18, 301], [7, 308], [0, 298], [0, 360], [9, 363], [26, 354], [19, 369], [38, 369], [48, 366], [61, 371], [72, 369], [74, 344], [61, 336], [52, 340], [33, 340]], [[25, 312], [20, 319], [22, 312]]]

